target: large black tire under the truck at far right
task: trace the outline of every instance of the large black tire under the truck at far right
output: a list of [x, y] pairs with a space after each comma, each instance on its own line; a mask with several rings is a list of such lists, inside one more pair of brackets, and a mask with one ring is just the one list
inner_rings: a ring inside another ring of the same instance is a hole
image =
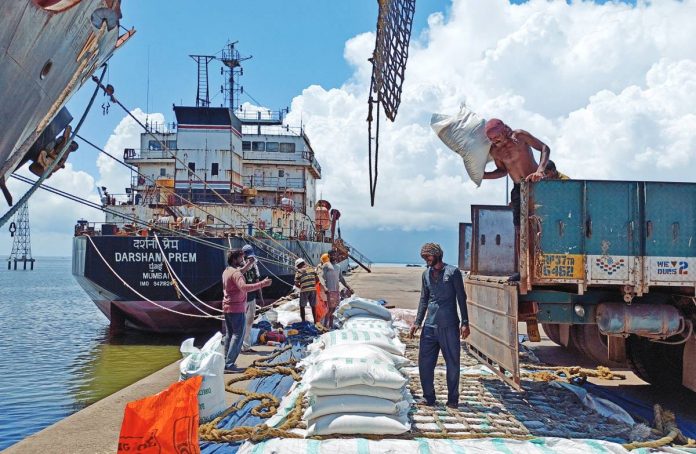
[[638, 336], [626, 339], [626, 357], [631, 369], [652, 385], [681, 386], [683, 345], [665, 345]]

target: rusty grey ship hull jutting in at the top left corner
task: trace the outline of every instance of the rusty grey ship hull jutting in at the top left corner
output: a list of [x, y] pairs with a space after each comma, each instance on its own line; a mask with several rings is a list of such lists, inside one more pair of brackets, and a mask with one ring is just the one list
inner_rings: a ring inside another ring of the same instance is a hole
[[56, 159], [73, 120], [65, 104], [135, 33], [122, 32], [120, 20], [120, 0], [0, 2], [0, 190], [8, 205], [6, 178], [27, 162], [40, 176]]

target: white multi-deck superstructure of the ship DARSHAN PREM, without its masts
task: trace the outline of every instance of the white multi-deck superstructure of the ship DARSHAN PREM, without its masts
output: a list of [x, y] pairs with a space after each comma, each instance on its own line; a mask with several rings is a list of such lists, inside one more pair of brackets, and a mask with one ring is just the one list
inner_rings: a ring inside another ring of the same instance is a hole
[[[175, 106], [174, 113], [176, 124], [150, 125], [153, 134], [141, 135], [140, 149], [124, 151], [143, 175], [134, 174], [117, 211], [140, 219], [198, 217], [214, 233], [216, 221], [198, 205], [247, 233], [314, 233], [321, 167], [302, 130], [277, 124], [278, 117], [264, 123], [257, 112], [252, 119], [240, 111], [240, 119], [227, 108]], [[107, 214], [107, 222], [116, 218]]]

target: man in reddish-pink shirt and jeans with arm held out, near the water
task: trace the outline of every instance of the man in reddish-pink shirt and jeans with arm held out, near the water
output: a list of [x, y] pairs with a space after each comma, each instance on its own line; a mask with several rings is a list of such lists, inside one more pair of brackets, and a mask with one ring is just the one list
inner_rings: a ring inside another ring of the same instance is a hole
[[240, 269], [244, 264], [244, 252], [233, 249], [227, 256], [227, 265], [222, 273], [222, 311], [225, 316], [225, 371], [235, 373], [237, 357], [242, 349], [247, 292], [253, 292], [271, 285], [266, 278], [255, 284], [247, 284]]

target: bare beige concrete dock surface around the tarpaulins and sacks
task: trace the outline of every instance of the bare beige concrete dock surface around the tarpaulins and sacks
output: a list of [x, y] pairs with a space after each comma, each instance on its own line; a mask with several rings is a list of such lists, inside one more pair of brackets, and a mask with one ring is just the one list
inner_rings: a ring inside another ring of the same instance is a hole
[[[356, 271], [347, 280], [357, 294], [366, 298], [384, 299], [389, 305], [404, 309], [416, 309], [420, 296], [421, 274], [423, 268], [374, 268], [372, 273]], [[522, 329], [522, 325], [520, 325]], [[576, 354], [558, 347], [546, 338], [542, 342], [531, 344], [542, 361], [556, 365], [583, 365], [595, 367], [587, 360]], [[272, 350], [271, 347], [254, 347], [258, 355], [240, 355], [239, 365], [246, 367], [255, 359], [262, 357]], [[605, 383], [623, 387], [635, 387], [636, 392], [655, 393], [653, 387], [645, 385], [632, 372], [628, 380], [618, 383]], [[15, 453], [75, 453], [95, 454], [116, 452], [118, 436], [123, 418], [123, 410], [127, 402], [142, 399], [156, 394], [178, 380], [178, 362], [146, 377], [133, 385], [109, 396], [101, 401], [75, 413], [46, 429], [31, 435], [23, 441], [11, 446], [4, 452]], [[240, 383], [243, 386], [243, 383]], [[227, 395], [228, 402], [236, 400], [236, 396]], [[683, 396], [657, 396], [659, 402], [666, 408], [680, 411], [685, 405]], [[681, 402], [680, 402], [681, 401]], [[693, 412], [693, 410], [692, 410]]]

